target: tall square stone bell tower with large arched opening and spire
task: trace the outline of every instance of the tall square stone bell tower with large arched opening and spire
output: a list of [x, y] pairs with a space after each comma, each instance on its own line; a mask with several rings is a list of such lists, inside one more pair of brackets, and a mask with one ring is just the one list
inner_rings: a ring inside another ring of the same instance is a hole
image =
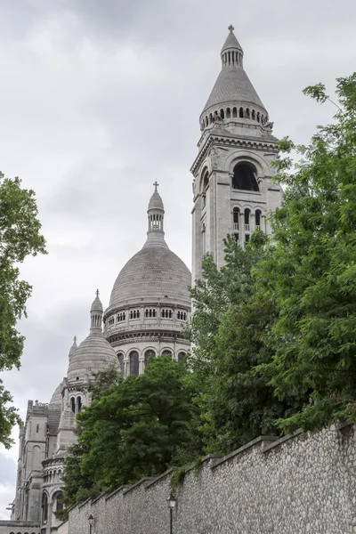
[[200, 115], [193, 180], [192, 278], [201, 275], [203, 255], [223, 265], [223, 239], [235, 234], [243, 247], [256, 228], [271, 233], [266, 215], [280, 205], [282, 189], [272, 182], [277, 158], [273, 123], [243, 67], [244, 53], [229, 27], [222, 70]]

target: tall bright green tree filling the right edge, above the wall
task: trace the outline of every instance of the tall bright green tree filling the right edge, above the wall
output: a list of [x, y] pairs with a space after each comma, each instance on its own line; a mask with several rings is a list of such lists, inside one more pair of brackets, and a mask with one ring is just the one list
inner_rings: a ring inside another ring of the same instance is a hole
[[[320, 84], [304, 93], [329, 101]], [[258, 290], [279, 307], [276, 351], [259, 370], [279, 399], [303, 401], [279, 419], [284, 433], [356, 420], [356, 73], [337, 79], [336, 94], [334, 122], [308, 146], [280, 143], [287, 192], [271, 216], [273, 253], [256, 270]], [[301, 159], [292, 169], [293, 149]]]

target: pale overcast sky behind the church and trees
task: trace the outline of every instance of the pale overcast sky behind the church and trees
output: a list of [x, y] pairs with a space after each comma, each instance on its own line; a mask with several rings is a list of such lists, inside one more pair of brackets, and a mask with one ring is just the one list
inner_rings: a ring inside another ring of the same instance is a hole
[[[50, 400], [95, 290], [105, 308], [142, 247], [156, 179], [166, 241], [190, 267], [198, 117], [230, 24], [274, 134], [308, 142], [335, 109], [303, 87], [332, 94], [356, 69], [354, 0], [0, 0], [0, 170], [36, 191], [48, 250], [21, 266], [25, 350], [1, 376], [21, 417], [28, 399]], [[0, 448], [0, 519], [16, 458], [17, 443]]]

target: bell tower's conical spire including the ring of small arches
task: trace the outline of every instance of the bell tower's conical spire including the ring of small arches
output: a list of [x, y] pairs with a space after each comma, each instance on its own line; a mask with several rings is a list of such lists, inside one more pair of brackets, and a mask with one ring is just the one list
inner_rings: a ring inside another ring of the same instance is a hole
[[244, 53], [233, 29], [229, 26], [221, 52], [222, 70], [200, 116], [201, 129], [214, 124], [216, 117], [261, 124], [267, 118], [267, 111], [243, 68]]

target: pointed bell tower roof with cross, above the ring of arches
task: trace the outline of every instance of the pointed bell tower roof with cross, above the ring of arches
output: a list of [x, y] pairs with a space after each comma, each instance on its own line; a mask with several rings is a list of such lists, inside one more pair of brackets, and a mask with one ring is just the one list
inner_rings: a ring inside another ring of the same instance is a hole
[[[243, 50], [239, 44], [238, 39], [233, 33], [233, 27], [230, 26], [230, 33], [223, 44], [222, 49], [222, 71], [217, 77], [215, 85], [206, 105], [202, 111], [202, 115], [206, 113], [207, 109], [223, 104], [248, 104], [258, 106], [263, 109], [267, 115], [267, 111], [263, 106], [263, 102], [255, 91], [254, 85], [251, 84], [247, 73], [243, 68], [242, 57]], [[227, 61], [230, 57], [229, 51], [236, 50], [233, 53], [233, 59]]]

